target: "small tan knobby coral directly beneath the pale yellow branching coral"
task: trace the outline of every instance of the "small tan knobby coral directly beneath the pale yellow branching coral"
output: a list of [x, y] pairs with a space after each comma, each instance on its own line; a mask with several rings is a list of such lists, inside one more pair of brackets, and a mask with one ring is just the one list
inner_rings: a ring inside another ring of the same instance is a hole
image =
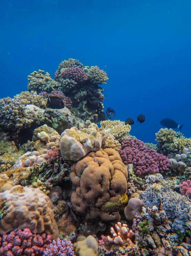
[[115, 137], [113, 135], [110, 135], [109, 132], [100, 131], [100, 134], [102, 136], [101, 147], [103, 149], [112, 148], [116, 151], [119, 151], [121, 149], [121, 144], [119, 143], [119, 141], [115, 140]]

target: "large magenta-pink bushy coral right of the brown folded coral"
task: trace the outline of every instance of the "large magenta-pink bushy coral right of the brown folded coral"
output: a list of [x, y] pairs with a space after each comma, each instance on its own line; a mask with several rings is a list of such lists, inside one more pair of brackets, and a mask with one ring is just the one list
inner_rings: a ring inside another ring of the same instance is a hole
[[122, 142], [122, 148], [119, 151], [122, 162], [125, 165], [133, 164], [137, 176], [163, 172], [170, 168], [169, 159], [146, 147], [143, 141], [126, 139]]

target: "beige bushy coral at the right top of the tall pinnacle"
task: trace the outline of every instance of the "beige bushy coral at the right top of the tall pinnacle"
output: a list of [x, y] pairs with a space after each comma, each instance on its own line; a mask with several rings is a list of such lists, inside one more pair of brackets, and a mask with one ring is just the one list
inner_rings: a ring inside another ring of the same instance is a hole
[[93, 85], [101, 85], [103, 83], [107, 83], [107, 80], [109, 79], [107, 73], [101, 70], [98, 66], [91, 66], [91, 68], [88, 69], [87, 75], [88, 80]]

